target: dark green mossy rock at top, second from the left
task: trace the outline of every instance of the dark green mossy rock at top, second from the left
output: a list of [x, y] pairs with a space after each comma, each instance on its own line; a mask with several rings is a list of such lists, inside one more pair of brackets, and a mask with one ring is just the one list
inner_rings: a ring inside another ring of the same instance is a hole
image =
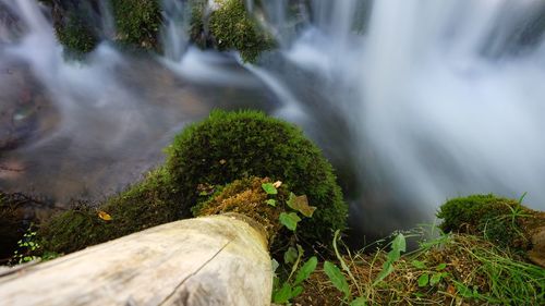
[[153, 49], [161, 24], [159, 0], [111, 0], [118, 38], [125, 44]]

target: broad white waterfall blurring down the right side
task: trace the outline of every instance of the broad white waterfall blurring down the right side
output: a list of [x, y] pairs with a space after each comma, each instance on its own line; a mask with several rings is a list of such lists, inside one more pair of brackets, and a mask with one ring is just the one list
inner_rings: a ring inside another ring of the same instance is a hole
[[[445, 199], [473, 193], [528, 192], [531, 207], [545, 208], [544, 8], [313, 1], [313, 22], [282, 52], [320, 76], [313, 90], [349, 122], [352, 144], [342, 149], [358, 151], [366, 187], [353, 213], [365, 229], [387, 219], [407, 227], [419, 209], [431, 218]], [[280, 78], [293, 71], [268, 69]], [[305, 112], [314, 108], [306, 101]]]

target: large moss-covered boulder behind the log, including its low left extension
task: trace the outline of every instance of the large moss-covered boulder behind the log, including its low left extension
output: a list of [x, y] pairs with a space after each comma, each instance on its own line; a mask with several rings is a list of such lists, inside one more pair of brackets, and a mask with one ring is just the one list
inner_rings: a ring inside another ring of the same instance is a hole
[[[348, 207], [331, 166], [292, 124], [257, 111], [214, 111], [187, 126], [167, 151], [164, 167], [98, 208], [75, 208], [44, 223], [38, 231], [44, 248], [71, 253], [192, 217], [191, 209], [207, 199], [209, 191], [251, 176], [281, 181], [317, 207], [313, 218], [300, 224], [300, 236], [310, 243], [329, 244], [331, 231], [346, 227]], [[227, 195], [244, 184], [226, 187]], [[241, 206], [247, 207], [245, 201]]]

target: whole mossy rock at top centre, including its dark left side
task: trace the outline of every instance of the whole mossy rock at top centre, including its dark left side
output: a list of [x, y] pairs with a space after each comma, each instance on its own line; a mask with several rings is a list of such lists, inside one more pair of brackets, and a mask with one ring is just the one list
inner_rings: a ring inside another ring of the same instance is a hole
[[237, 50], [245, 62], [255, 62], [275, 46], [272, 36], [249, 14], [243, 0], [216, 0], [217, 8], [209, 15], [207, 5], [206, 1], [192, 1], [190, 37], [197, 46]]

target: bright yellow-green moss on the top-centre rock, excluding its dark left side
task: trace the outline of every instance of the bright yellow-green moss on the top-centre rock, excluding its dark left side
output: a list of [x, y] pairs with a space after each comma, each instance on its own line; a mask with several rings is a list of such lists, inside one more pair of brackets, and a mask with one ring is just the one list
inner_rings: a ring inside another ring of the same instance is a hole
[[209, 29], [220, 51], [238, 50], [243, 61], [255, 62], [259, 53], [272, 48], [272, 38], [250, 16], [243, 0], [219, 3], [210, 14]]

